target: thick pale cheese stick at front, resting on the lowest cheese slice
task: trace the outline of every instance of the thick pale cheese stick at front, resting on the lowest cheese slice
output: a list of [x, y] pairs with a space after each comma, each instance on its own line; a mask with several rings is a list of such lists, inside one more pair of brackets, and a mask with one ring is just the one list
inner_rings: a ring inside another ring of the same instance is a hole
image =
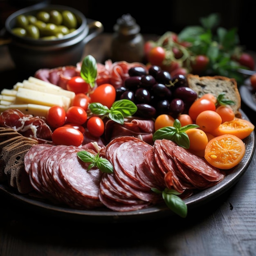
[[38, 92], [26, 88], [18, 88], [15, 104], [38, 104], [43, 106], [58, 105], [65, 109], [71, 105], [71, 99], [61, 95], [54, 95], [46, 92]]

